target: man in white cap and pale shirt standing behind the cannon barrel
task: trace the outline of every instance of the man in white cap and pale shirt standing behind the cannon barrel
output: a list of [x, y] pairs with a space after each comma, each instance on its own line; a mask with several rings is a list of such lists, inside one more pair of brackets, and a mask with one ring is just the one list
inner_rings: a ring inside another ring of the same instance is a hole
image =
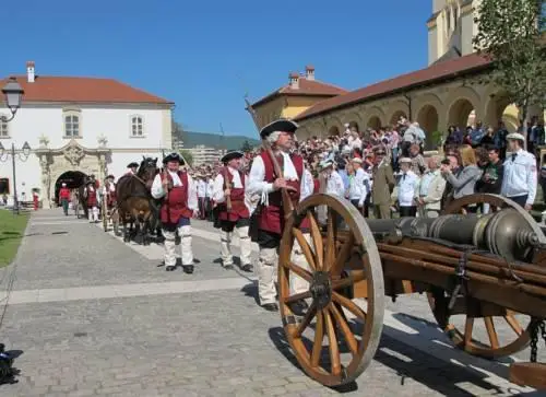
[[518, 132], [507, 136], [508, 150], [500, 194], [531, 210], [536, 196], [536, 159], [523, 150], [525, 138]]

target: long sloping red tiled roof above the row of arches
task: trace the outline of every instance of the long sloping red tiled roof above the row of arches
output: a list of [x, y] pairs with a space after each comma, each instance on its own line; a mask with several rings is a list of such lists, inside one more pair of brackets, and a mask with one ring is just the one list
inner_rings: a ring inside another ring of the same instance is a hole
[[434, 63], [426, 69], [420, 69], [411, 73], [401, 74], [393, 79], [383, 80], [379, 83], [351, 91], [344, 95], [339, 95], [317, 103], [294, 119], [301, 121], [306, 118], [330, 112], [340, 107], [354, 105], [393, 94], [400, 90], [408, 90], [425, 83], [441, 81], [459, 74], [466, 74], [480, 69], [487, 69], [491, 61], [478, 54], [466, 55], [461, 58]]

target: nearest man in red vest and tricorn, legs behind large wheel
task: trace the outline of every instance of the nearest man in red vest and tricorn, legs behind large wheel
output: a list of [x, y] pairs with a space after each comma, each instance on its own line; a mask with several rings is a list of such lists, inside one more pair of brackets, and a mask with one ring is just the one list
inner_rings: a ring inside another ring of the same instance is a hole
[[[283, 175], [275, 175], [273, 162], [266, 151], [262, 151], [253, 160], [249, 175], [248, 191], [250, 195], [261, 195], [262, 205], [257, 238], [260, 247], [258, 294], [262, 307], [271, 312], [278, 310], [275, 302], [276, 264], [277, 249], [284, 229], [281, 188], [288, 190], [295, 206], [309, 196], [313, 189], [312, 183], [307, 183], [308, 178], [304, 177], [304, 159], [298, 154], [290, 153], [294, 144], [294, 132], [297, 128], [296, 122], [287, 119], [280, 119], [263, 127], [260, 136], [271, 144], [283, 170]], [[306, 238], [309, 240], [306, 220], [301, 222], [300, 229]], [[309, 268], [297, 242], [294, 244], [292, 260], [305, 269]], [[290, 285], [294, 293], [309, 290], [307, 281], [299, 277], [294, 277], [290, 280]], [[290, 306], [293, 312], [298, 315], [308, 307], [304, 300]]]

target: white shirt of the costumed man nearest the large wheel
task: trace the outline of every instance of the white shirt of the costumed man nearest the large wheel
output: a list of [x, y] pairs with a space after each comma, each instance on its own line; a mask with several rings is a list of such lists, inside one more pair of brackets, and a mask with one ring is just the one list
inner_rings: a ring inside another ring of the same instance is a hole
[[[288, 153], [282, 152], [284, 157], [284, 172], [283, 177], [286, 180], [298, 180], [298, 174], [296, 173], [296, 167], [292, 162], [292, 159]], [[299, 201], [307, 198], [312, 192], [312, 179], [309, 186], [308, 177], [306, 177], [304, 172], [304, 177], [300, 182], [299, 189]], [[269, 194], [273, 192], [275, 189], [273, 188], [273, 184], [265, 182], [265, 165], [263, 164], [262, 156], [259, 155], [254, 157], [252, 162], [252, 168], [250, 170], [250, 175], [248, 177], [248, 192], [252, 195], [261, 195], [261, 202], [265, 206], [269, 206]]]

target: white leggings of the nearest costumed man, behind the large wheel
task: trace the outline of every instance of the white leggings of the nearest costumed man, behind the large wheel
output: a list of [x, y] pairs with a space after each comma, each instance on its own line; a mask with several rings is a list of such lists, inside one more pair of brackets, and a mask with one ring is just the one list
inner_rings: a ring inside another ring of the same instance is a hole
[[[306, 241], [310, 242], [309, 233], [304, 234]], [[311, 250], [313, 247], [310, 245]], [[297, 242], [294, 242], [292, 249], [290, 260], [309, 270], [305, 255]], [[262, 248], [258, 259], [258, 295], [260, 296], [260, 304], [274, 303], [276, 296], [275, 281], [277, 279], [277, 248]], [[290, 272], [290, 292], [292, 294], [306, 292], [309, 290], [309, 283], [299, 276]]]

